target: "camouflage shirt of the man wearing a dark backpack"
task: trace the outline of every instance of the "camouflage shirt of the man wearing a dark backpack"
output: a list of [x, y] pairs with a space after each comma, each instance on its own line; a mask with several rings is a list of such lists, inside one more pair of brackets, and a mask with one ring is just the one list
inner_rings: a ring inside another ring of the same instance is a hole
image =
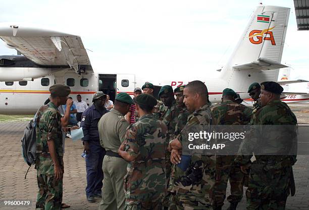
[[42, 106], [36, 115], [36, 164], [38, 174], [55, 174], [47, 141], [54, 141], [59, 164], [63, 167], [61, 114], [53, 102]]

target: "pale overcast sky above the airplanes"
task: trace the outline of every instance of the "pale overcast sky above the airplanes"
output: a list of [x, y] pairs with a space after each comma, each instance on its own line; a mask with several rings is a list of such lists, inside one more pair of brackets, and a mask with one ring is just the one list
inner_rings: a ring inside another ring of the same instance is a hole
[[[297, 31], [292, 0], [3, 1], [1, 22], [27, 22], [82, 38], [99, 72], [214, 75], [258, 4], [291, 8], [282, 63], [309, 80], [309, 31]], [[0, 44], [0, 54], [15, 54]], [[90, 60], [92, 62], [92, 60]], [[172, 77], [172, 76], [169, 76]]]

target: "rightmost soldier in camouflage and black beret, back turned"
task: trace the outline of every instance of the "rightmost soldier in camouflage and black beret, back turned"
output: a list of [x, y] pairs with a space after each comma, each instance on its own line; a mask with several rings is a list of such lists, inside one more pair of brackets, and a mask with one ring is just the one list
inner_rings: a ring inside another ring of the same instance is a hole
[[261, 83], [261, 108], [252, 116], [254, 126], [235, 159], [243, 172], [251, 165], [252, 153], [256, 159], [246, 191], [248, 210], [285, 209], [289, 191], [292, 196], [295, 193], [292, 165], [296, 162], [297, 120], [280, 101], [282, 91], [278, 83]]

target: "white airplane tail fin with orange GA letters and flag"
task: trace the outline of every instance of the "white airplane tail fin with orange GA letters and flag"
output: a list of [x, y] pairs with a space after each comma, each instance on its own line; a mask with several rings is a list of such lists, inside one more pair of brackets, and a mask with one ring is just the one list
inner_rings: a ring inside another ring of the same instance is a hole
[[[221, 71], [230, 87], [247, 90], [253, 82], [277, 81], [289, 8], [260, 5], [252, 13], [236, 48]], [[241, 81], [241, 82], [239, 82]]]

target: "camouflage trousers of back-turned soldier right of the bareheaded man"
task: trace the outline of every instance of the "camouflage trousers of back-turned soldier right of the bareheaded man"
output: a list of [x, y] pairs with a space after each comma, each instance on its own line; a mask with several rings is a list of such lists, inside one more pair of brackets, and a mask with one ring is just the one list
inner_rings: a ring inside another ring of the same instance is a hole
[[213, 191], [214, 206], [223, 206], [226, 197], [228, 180], [231, 185], [231, 195], [227, 200], [231, 203], [240, 202], [243, 194], [244, 175], [240, 167], [234, 164], [234, 155], [216, 157], [216, 182]]

